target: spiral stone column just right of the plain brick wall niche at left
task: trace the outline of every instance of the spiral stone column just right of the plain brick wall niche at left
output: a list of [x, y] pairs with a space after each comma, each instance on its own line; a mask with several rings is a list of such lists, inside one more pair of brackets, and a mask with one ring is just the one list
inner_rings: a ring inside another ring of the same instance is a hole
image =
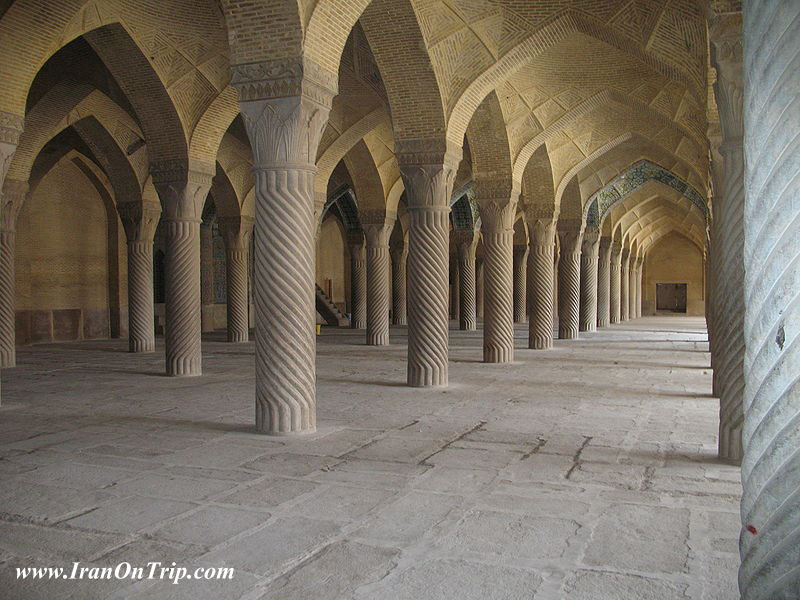
[[120, 203], [117, 210], [128, 240], [128, 348], [154, 352], [153, 237], [161, 207], [128, 202]]

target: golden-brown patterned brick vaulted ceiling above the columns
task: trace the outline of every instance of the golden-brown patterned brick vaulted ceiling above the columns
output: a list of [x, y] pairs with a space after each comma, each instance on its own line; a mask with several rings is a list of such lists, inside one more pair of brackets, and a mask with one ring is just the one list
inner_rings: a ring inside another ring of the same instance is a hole
[[[109, 133], [129, 156], [140, 189], [149, 185], [148, 162], [217, 162], [240, 205], [247, 206], [252, 153], [235, 119], [231, 63], [234, 68], [273, 64], [291, 60], [287, 56], [294, 52], [317, 65], [320, 81], [338, 71], [338, 94], [318, 151], [315, 188], [323, 195], [334, 168], [345, 161], [342, 168], [353, 171], [349, 177], [371, 173], [377, 188], [370, 189], [382, 189], [384, 200], [393, 194], [396, 203], [402, 192], [396, 142], [412, 135], [463, 144], [470, 127], [481, 132], [480, 141], [503, 140], [501, 150], [490, 144], [473, 154], [484, 165], [491, 163], [491, 172], [513, 174], [523, 188], [523, 205], [558, 210], [559, 195], [575, 177], [585, 201], [642, 159], [672, 171], [701, 194], [708, 187], [707, 131], [709, 119], [714, 128], [717, 109], [705, 11], [724, 12], [730, 3], [711, 8], [696, 0], [6, 4], [0, 15], [0, 44], [8, 49], [0, 61], [6, 82], [0, 111], [25, 118], [21, 146], [30, 149], [10, 170], [19, 179], [29, 175], [38, 149], [75, 120], [68, 118], [74, 102], [48, 100], [49, 89], [69, 81], [74, 70], [76, 81], [97, 86], [103, 98], [84, 102], [81, 116], [104, 111], [99, 121], [113, 129]], [[44, 25], [41, 15], [47, 16]], [[119, 36], [127, 36], [141, 56], [115, 55]], [[93, 73], [81, 73], [80, 61], [61, 50], [70, 42], [108, 70], [96, 65], [89, 68]], [[58, 63], [63, 68], [48, 74], [43, 67], [54, 55], [63, 55]], [[173, 108], [158, 108], [153, 82]], [[478, 108], [490, 95], [497, 118], [477, 123], [486, 118]], [[48, 111], [49, 118], [42, 114]], [[183, 132], [184, 146], [157, 139], [174, 131]], [[462, 185], [478, 168], [470, 154], [465, 152], [459, 169]]]

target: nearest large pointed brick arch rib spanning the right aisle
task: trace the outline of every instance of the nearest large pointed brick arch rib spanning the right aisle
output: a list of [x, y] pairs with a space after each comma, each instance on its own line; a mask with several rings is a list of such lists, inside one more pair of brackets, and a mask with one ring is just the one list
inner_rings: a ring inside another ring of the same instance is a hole
[[464, 89], [448, 113], [448, 135], [452, 135], [454, 140], [458, 138], [459, 134], [463, 135], [472, 112], [490, 90], [496, 89], [527, 62], [535, 59], [547, 49], [574, 33], [594, 37], [609, 46], [631, 54], [642, 64], [689, 89], [696, 96], [698, 102], [701, 105], [705, 105], [704, 82], [693, 81], [682, 69], [671, 65], [653, 53], [643, 50], [635, 43], [632, 43], [630, 38], [594, 20], [585, 18], [577, 11], [567, 10], [508, 51], [492, 67], [475, 78]]

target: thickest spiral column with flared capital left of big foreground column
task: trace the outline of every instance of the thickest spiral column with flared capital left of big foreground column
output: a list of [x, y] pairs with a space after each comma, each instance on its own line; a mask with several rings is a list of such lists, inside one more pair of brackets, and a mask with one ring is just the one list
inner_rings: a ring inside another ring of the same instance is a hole
[[211, 188], [213, 168], [189, 169], [185, 162], [151, 165], [164, 207], [166, 371], [202, 374], [200, 317], [200, 213]]

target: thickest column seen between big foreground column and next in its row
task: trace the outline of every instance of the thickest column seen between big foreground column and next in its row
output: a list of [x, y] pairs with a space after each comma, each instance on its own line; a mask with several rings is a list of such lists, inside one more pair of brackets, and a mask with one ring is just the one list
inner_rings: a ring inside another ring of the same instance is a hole
[[389, 345], [390, 224], [364, 225], [367, 239], [367, 345]]

